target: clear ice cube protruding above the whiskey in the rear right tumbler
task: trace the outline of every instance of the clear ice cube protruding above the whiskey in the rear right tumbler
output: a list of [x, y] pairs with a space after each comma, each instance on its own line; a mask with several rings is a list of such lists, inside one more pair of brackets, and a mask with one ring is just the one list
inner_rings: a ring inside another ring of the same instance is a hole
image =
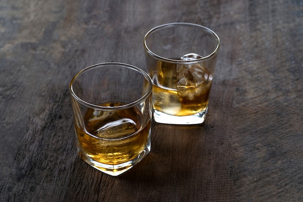
[[[184, 61], [192, 61], [202, 58], [195, 53], [189, 53], [181, 57]], [[206, 72], [204, 62], [177, 65], [177, 88], [195, 88], [208, 81], [209, 75]]]

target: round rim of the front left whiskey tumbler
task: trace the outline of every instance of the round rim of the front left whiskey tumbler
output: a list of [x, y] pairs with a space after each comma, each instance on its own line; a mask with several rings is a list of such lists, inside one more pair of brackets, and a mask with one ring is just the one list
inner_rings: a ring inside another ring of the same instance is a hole
[[[149, 89], [148, 91], [142, 95], [139, 99], [133, 101], [133, 102], [130, 102], [130, 103], [127, 103], [127, 104], [124, 104], [124, 105], [120, 105], [120, 106], [115, 106], [115, 107], [110, 107], [110, 106], [100, 106], [100, 105], [95, 105], [95, 104], [91, 104], [89, 102], [86, 102], [84, 101], [83, 99], [81, 99], [80, 97], [77, 96], [77, 94], [74, 92], [74, 89], [73, 89], [73, 84], [76, 80], [76, 78], [78, 78], [80, 75], [82, 75], [83, 73], [91, 70], [91, 69], [94, 69], [94, 68], [97, 68], [97, 67], [105, 67], [105, 66], [121, 66], [121, 67], [125, 67], [125, 68], [128, 68], [128, 69], [132, 69], [136, 72], [139, 72], [140, 74], [142, 74], [144, 76], [144, 78], [148, 81], [149, 83]], [[127, 108], [130, 108], [130, 107], [133, 107], [135, 105], [137, 105], [138, 103], [140, 103], [141, 101], [145, 100], [151, 93], [152, 93], [152, 79], [151, 77], [145, 72], [143, 71], [142, 69], [136, 67], [136, 66], [133, 66], [131, 64], [126, 64], [126, 63], [121, 63], [121, 62], [104, 62], [104, 63], [98, 63], [98, 64], [93, 64], [91, 66], [88, 66], [84, 69], [82, 69], [80, 72], [78, 72], [71, 80], [70, 84], [69, 84], [69, 90], [70, 90], [70, 93], [71, 95], [78, 101], [80, 102], [81, 104], [89, 107], [89, 108], [92, 108], [92, 109], [97, 109], [97, 110], [108, 110], [108, 111], [115, 111], [115, 110], [119, 110], [119, 109], [127, 109]]]

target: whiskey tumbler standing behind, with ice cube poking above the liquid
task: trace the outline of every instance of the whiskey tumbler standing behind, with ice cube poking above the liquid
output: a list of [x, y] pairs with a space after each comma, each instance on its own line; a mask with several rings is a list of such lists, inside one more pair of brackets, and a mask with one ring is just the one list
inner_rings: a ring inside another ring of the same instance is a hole
[[190, 23], [161, 25], [145, 35], [155, 122], [204, 122], [219, 45], [212, 30]]

